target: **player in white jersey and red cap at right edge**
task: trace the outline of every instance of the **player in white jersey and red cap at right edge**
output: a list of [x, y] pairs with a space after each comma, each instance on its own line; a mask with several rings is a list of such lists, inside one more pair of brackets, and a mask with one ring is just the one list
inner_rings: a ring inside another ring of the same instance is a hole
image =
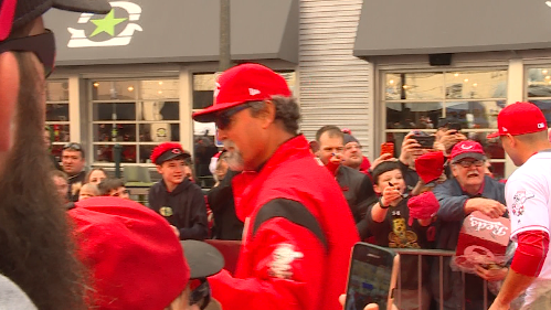
[[511, 268], [490, 310], [509, 309], [526, 290], [521, 309], [551, 309], [551, 143], [541, 110], [530, 103], [516, 103], [498, 115], [504, 150], [519, 167], [507, 180], [506, 201], [511, 220], [511, 239], [518, 243]]

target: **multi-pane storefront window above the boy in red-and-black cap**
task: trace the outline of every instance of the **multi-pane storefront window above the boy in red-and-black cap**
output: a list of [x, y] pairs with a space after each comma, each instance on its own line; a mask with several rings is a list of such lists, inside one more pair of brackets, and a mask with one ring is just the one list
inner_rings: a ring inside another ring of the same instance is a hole
[[121, 162], [149, 163], [155, 146], [180, 141], [177, 79], [93, 81], [92, 141], [94, 161], [114, 162], [114, 146], [121, 146]]

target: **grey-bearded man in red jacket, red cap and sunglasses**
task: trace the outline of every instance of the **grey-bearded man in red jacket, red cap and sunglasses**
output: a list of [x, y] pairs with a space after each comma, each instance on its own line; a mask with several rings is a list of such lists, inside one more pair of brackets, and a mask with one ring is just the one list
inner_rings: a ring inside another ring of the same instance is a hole
[[299, 108], [283, 77], [243, 64], [218, 79], [215, 121], [229, 152], [235, 209], [245, 222], [235, 275], [211, 277], [223, 309], [342, 309], [352, 245], [359, 240], [337, 182], [297, 135]]

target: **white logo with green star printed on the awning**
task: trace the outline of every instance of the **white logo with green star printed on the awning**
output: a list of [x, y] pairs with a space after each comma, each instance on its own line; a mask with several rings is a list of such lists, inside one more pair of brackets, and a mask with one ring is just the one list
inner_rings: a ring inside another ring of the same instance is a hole
[[[130, 44], [136, 31], [142, 31], [138, 24], [141, 7], [130, 1], [112, 1], [113, 10], [104, 15], [82, 13], [78, 19], [81, 29], [67, 28], [71, 40], [67, 47], [123, 46]], [[125, 14], [125, 11], [127, 14]], [[117, 14], [117, 17], [115, 15]], [[94, 19], [93, 19], [94, 18]], [[123, 31], [115, 32], [116, 25], [123, 23]], [[94, 31], [89, 33], [91, 25]], [[99, 35], [107, 33], [108, 35]], [[91, 40], [93, 39], [94, 40]], [[103, 41], [98, 41], [102, 40]]]

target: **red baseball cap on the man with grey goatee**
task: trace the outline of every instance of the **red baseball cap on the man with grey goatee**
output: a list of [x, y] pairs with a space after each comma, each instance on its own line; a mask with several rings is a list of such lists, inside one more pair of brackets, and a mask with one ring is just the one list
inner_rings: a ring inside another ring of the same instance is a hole
[[199, 122], [214, 121], [216, 113], [247, 101], [262, 101], [274, 96], [290, 97], [287, 82], [259, 64], [242, 64], [222, 73], [216, 81], [214, 104], [193, 114]]

